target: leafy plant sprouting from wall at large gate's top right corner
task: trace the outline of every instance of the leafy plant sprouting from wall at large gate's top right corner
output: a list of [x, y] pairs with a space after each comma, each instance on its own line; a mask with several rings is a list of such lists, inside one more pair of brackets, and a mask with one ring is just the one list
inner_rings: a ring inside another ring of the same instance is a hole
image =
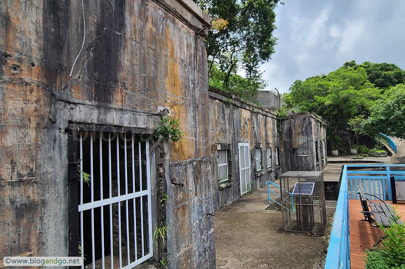
[[173, 142], [182, 142], [184, 132], [180, 129], [179, 119], [173, 120], [168, 116], [164, 116], [153, 136], [158, 138], [158, 140], [149, 149], [149, 154], [151, 154], [162, 141], [170, 140]]

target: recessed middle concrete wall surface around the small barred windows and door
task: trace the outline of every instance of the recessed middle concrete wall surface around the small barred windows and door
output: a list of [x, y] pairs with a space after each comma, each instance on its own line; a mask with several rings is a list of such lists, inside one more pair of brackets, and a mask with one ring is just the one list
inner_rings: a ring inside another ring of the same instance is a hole
[[[252, 187], [258, 189], [267, 186], [267, 181], [275, 181], [281, 173], [280, 166], [275, 163], [275, 147], [277, 141], [276, 115], [253, 103], [243, 102], [238, 97], [220, 90], [211, 89], [209, 92], [209, 118], [211, 131], [211, 153], [217, 149], [228, 149], [230, 154], [231, 177], [223, 183], [218, 183], [217, 159], [213, 158], [211, 167], [214, 179], [214, 207], [222, 208], [241, 198], [239, 175], [238, 143], [249, 143], [250, 149], [250, 178]], [[271, 147], [272, 164], [267, 167], [266, 148]], [[261, 149], [262, 170], [256, 171], [254, 149]]]

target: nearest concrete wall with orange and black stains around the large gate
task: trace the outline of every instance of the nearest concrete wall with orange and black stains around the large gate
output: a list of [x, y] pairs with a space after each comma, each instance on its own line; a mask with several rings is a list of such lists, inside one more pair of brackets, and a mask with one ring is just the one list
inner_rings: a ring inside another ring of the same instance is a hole
[[69, 122], [151, 134], [166, 108], [185, 132], [151, 171], [171, 198], [170, 268], [214, 268], [205, 13], [190, 0], [5, 0], [0, 15], [0, 256], [67, 256]]

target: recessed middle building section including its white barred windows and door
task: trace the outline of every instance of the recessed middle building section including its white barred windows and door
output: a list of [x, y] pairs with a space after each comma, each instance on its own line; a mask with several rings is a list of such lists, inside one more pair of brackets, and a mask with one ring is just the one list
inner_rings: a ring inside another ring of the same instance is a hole
[[281, 174], [276, 114], [220, 90], [209, 92], [214, 207], [222, 208]]

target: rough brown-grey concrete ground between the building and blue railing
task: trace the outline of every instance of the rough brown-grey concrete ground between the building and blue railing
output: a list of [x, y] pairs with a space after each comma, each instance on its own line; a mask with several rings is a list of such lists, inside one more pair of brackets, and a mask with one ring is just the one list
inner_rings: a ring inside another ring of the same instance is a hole
[[[281, 212], [268, 206], [262, 188], [215, 213], [217, 269], [323, 268], [327, 235], [283, 233]], [[327, 231], [335, 208], [335, 201], [327, 201]]]

